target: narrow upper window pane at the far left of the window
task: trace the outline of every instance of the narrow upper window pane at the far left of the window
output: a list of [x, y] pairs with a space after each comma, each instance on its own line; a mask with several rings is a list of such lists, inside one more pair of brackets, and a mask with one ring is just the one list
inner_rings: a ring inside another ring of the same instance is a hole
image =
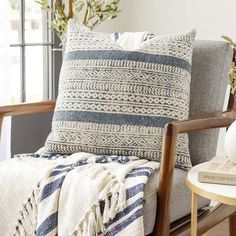
[[20, 1], [10, 0], [10, 43], [18, 43], [20, 41]]

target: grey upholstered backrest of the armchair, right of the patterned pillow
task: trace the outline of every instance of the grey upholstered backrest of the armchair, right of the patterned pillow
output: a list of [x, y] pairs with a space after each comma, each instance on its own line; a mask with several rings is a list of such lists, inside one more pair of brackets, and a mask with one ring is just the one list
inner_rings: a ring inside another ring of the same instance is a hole
[[[222, 111], [233, 50], [223, 41], [197, 40], [193, 50], [190, 117]], [[219, 130], [191, 133], [189, 148], [193, 165], [216, 153]]]

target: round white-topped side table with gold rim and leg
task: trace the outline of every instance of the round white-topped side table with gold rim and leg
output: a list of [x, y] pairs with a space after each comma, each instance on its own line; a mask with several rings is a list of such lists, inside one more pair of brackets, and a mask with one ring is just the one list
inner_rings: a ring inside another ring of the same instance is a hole
[[194, 166], [186, 177], [186, 185], [192, 192], [191, 236], [197, 236], [197, 196], [236, 206], [236, 186], [200, 183], [198, 181], [199, 169], [207, 164], [205, 162]]

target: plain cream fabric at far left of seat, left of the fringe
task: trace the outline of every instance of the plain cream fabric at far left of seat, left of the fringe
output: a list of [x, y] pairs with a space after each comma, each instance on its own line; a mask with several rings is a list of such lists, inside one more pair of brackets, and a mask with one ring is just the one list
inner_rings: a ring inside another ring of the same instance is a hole
[[53, 162], [27, 158], [1, 162], [0, 235], [12, 235], [24, 205]]

